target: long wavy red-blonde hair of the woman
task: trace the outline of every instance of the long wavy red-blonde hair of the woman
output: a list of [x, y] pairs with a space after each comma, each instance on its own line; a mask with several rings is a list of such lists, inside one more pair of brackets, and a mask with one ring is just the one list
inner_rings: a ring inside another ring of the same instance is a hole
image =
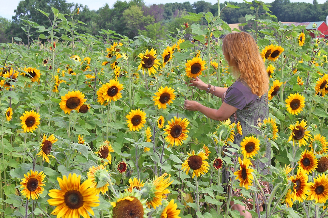
[[269, 76], [253, 37], [246, 32], [229, 33], [223, 39], [222, 51], [233, 74], [247, 83], [252, 93], [268, 92]]

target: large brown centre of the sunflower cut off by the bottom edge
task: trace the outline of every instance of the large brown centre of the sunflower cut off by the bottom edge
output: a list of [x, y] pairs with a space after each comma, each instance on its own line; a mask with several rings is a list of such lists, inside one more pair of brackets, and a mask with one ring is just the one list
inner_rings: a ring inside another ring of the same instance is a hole
[[132, 201], [123, 200], [113, 208], [113, 218], [143, 218], [144, 208], [141, 202], [134, 198]]

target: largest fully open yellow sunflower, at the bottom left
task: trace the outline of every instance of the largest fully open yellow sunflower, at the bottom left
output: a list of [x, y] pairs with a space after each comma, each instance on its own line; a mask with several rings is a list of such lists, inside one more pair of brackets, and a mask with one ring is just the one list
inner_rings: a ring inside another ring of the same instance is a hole
[[51, 206], [56, 208], [51, 212], [57, 217], [75, 218], [89, 217], [88, 212], [94, 216], [91, 207], [98, 207], [99, 196], [95, 188], [89, 188], [92, 181], [87, 179], [80, 185], [81, 175], [78, 177], [70, 173], [68, 178], [64, 175], [63, 179], [57, 178], [60, 190], [52, 189], [48, 195], [52, 198], [48, 200]]

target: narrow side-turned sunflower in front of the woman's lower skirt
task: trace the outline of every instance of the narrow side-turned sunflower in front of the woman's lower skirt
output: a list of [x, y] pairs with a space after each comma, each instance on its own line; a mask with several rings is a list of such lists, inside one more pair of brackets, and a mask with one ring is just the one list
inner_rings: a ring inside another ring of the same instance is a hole
[[240, 168], [234, 173], [234, 175], [236, 175], [236, 179], [239, 179], [240, 181], [239, 186], [248, 189], [248, 186], [252, 185], [252, 180], [254, 179], [253, 175], [251, 174], [254, 170], [248, 168], [251, 164], [249, 159], [241, 160], [240, 157], [238, 157], [238, 161]]

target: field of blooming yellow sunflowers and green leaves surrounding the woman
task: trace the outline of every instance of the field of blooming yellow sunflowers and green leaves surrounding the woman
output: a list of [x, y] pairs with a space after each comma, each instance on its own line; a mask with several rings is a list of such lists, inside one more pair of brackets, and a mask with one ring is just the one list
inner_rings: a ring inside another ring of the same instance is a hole
[[246, 15], [270, 87], [269, 117], [254, 123], [262, 134], [243, 135], [234, 120], [183, 106], [221, 105], [187, 86], [191, 78], [236, 80], [221, 49], [232, 30], [211, 12], [190, 13], [177, 35], [152, 41], [79, 34], [78, 10], [37, 10], [51, 21], [30, 23], [39, 40], [0, 45], [1, 217], [239, 218], [231, 202], [262, 204], [245, 208], [259, 218], [328, 216], [328, 43], [319, 31], [311, 38], [304, 26]]

